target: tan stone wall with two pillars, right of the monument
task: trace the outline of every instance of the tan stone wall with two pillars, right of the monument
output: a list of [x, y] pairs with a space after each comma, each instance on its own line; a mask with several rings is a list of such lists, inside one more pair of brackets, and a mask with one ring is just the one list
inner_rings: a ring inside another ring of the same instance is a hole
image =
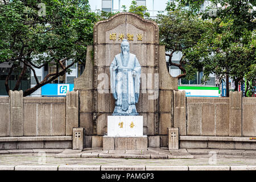
[[174, 127], [181, 136], [255, 137], [256, 98], [185, 97], [174, 91]]

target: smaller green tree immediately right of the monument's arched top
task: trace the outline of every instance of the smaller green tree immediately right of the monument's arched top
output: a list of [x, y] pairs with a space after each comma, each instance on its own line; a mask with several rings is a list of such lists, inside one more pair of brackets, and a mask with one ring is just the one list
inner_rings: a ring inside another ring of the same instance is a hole
[[[169, 57], [170, 65], [176, 66], [181, 70], [181, 74], [177, 78], [188, 77], [192, 79], [195, 75], [196, 68], [192, 68], [190, 61], [186, 58], [186, 50], [192, 48], [204, 36], [204, 32], [208, 30], [209, 23], [204, 22], [196, 14], [191, 11], [175, 8], [167, 3], [167, 15], [158, 14], [156, 23], [159, 26], [160, 44], [166, 48], [166, 56]], [[172, 61], [174, 53], [181, 51], [183, 53], [179, 63]], [[197, 65], [197, 68], [199, 66]], [[201, 67], [200, 67], [201, 68]]]

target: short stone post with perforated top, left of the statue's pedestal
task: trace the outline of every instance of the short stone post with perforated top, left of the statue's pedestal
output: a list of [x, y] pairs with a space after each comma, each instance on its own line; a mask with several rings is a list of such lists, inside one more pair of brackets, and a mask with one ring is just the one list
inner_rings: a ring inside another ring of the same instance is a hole
[[85, 146], [85, 130], [83, 127], [73, 128], [73, 145], [72, 149], [82, 150]]

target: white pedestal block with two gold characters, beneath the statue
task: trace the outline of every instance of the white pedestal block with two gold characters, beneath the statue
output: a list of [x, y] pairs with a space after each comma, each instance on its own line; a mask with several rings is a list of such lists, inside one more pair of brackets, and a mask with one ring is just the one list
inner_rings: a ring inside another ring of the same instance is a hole
[[108, 137], [142, 136], [142, 115], [108, 115]]

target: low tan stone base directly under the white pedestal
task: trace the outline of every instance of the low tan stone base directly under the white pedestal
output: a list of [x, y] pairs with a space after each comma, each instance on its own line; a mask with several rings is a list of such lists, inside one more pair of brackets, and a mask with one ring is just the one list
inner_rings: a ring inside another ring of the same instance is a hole
[[147, 150], [147, 135], [143, 137], [103, 137], [103, 150]]

